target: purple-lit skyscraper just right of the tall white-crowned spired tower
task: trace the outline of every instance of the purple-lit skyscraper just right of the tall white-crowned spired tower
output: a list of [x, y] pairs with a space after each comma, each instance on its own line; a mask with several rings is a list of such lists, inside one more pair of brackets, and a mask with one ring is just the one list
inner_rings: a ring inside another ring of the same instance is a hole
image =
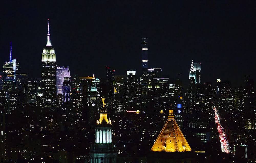
[[64, 66], [59, 66], [56, 68], [56, 86], [57, 86], [57, 94], [62, 94], [63, 81], [65, 77], [70, 77], [69, 68]]

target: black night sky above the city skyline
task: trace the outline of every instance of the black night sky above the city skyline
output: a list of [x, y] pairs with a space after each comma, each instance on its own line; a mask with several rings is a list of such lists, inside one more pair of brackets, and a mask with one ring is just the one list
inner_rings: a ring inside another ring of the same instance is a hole
[[[148, 67], [188, 82], [191, 59], [201, 63], [202, 82], [233, 86], [255, 80], [256, 1], [1, 1], [0, 61], [12, 54], [21, 72], [40, 77], [41, 53], [51, 43], [59, 66], [71, 75], [105, 77], [141, 72], [142, 37]], [[0, 69], [2, 71], [2, 68]]]

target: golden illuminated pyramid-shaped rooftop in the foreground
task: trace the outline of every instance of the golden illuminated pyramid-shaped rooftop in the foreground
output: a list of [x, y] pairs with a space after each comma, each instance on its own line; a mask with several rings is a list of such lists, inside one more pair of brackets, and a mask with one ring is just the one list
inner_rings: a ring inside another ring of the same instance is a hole
[[184, 152], [191, 148], [174, 119], [173, 110], [169, 110], [168, 119], [158, 135], [153, 147], [153, 152]]

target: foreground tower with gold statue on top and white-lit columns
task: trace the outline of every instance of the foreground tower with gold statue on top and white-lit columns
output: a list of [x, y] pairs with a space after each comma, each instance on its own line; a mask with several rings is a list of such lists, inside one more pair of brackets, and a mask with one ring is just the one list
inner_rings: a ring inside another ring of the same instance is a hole
[[103, 107], [100, 110], [100, 119], [96, 121], [95, 143], [91, 147], [91, 163], [116, 163], [116, 149], [112, 143], [112, 125], [107, 117], [105, 98], [102, 98]]

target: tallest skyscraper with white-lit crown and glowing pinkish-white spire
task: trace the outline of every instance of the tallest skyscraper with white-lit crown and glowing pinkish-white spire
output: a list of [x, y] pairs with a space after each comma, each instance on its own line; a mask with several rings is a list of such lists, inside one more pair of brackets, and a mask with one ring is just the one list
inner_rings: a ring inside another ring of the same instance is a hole
[[[49, 20], [49, 19], [48, 19]], [[48, 21], [47, 43], [42, 52], [42, 94], [43, 107], [56, 106], [56, 55], [50, 40], [50, 24]]]

